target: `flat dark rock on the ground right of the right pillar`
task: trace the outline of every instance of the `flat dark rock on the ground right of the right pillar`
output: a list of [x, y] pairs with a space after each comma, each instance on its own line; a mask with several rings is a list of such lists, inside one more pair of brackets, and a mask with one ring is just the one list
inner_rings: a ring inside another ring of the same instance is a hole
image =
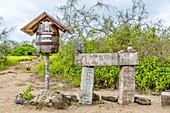
[[140, 105], [151, 105], [151, 100], [143, 97], [135, 97], [134, 102]]

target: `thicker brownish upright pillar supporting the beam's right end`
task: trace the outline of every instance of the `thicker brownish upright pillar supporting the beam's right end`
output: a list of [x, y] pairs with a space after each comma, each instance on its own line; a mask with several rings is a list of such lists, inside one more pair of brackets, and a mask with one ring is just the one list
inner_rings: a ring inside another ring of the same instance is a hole
[[118, 103], [127, 105], [134, 102], [135, 95], [135, 68], [122, 66], [120, 69]]

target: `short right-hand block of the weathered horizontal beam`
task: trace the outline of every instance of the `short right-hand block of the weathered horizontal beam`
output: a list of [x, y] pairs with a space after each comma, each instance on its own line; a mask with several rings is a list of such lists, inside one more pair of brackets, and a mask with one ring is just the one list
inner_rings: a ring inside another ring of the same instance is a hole
[[138, 53], [119, 53], [118, 57], [119, 65], [139, 65]]

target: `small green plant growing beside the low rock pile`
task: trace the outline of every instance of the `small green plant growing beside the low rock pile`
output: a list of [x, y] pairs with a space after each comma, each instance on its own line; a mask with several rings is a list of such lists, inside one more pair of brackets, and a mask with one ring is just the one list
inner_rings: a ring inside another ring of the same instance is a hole
[[33, 88], [32, 85], [29, 85], [27, 89], [21, 92], [24, 100], [31, 100], [35, 97], [33, 94], [31, 94], [31, 91], [33, 91]]

